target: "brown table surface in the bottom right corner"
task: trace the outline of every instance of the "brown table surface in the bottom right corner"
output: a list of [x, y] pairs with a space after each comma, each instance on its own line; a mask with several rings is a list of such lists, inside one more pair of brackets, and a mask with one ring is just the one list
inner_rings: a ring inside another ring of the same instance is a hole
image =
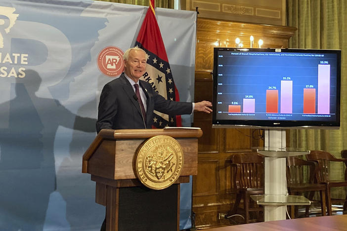
[[251, 223], [205, 231], [347, 231], [347, 215]]

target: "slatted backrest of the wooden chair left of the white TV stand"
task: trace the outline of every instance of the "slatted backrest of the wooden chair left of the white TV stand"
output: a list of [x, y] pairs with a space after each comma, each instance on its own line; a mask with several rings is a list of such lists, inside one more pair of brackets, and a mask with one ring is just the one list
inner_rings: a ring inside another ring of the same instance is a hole
[[244, 189], [259, 189], [264, 186], [263, 156], [252, 153], [235, 153], [231, 156], [231, 162], [237, 166], [236, 187]]

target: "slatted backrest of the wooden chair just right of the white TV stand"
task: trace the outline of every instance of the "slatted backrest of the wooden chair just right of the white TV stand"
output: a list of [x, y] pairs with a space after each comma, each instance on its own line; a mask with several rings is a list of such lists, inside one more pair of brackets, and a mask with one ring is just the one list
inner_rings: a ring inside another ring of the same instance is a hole
[[287, 157], [287, 184], [316, 183], [319, 179], [318, 164], [295, 156]]

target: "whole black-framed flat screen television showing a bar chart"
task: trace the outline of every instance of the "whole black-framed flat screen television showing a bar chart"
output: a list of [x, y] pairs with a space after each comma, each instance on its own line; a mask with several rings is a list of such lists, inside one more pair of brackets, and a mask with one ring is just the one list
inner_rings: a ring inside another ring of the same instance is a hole
[[340, 127], [341, 50], [214, 49], [213, 127]]

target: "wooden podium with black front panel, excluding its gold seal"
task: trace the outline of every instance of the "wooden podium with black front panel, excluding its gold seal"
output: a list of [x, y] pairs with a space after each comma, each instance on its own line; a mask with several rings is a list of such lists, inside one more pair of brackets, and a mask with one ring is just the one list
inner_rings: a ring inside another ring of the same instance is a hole
[[[184, 162], [172, 186], [151, 190], [136, 178], [134, 158], [142, 143], [158, 135], [180, 144]], [[95, 202], [106, 206], [106, 230], [178, 231], [179, 184], [197, 175], [201, 136], [200, 128], [102, 129], [83, 155], [82, 172], [96, 182]]]

